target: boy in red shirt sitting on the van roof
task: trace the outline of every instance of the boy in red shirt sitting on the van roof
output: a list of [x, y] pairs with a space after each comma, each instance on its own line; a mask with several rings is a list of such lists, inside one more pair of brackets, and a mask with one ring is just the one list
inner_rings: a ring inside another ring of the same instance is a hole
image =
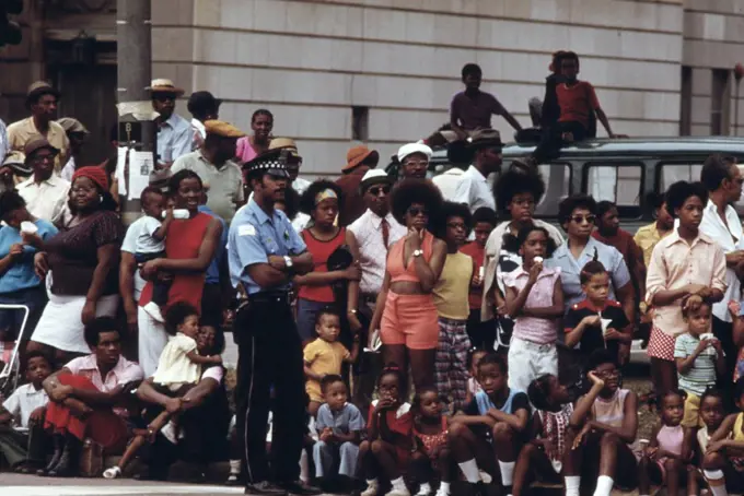
[[555, 158], [558, 150], [565, 144], [582, 141], [589, 137], [591, 116], [596, 118], [607, 131], [609, 138], [616, 138], [609, 121], [596, 98], [594, 86], [586, 81], [579, 81], [579, 56], [573, 51], [562, 54], [560, 73], [563, 81], [556, 85], [556, 97], [560, 107], [558, 123], [543, 135], [543, 141], [535, 149], [534, 160], [538, 164]]

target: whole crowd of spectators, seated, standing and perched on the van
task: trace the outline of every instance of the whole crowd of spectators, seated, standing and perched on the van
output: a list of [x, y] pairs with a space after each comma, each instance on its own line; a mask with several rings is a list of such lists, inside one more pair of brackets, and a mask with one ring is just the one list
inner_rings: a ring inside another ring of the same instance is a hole
[[[0, 410], [7, 465], [101, 475], [96, 457], [121, 454], [103, 476], [140, 458], [165, 479], [177, 459], [229, 461], [226, 483], [266, 495], [737, 491], [744, 178], [710, 156], [700, 181], [649, 199], [656, 222], [635, 236], [614, 203], [580, 193], [560, 202], [560, 229], [535, 219], [535, 164], [594, 118], [612, 135], [578, 62], [556, 54], [540, 143], [508, 165], [491, 115], [524, 130], [465, 66], [434, 141], [470, 165], [433, 180], [430, 137], [399, 147], [399, 177], [358, 145], [339, 179], [307, 181], [269, 110], [248, 135], [196, 92], [189, 122], [174, 111], [184, 91], [155, 80], [159, 170], [128, 227], [126, 167], [80, 163], [88, 130], [55, 121], [61, 95], [32, 85], [31, 116], [0, 140], [0, 303], [28, 308], [23, 333], [24, 312], [0, 310], [0, 341], [22, 343]], [[623, 387], [637, 336], [660, 416], [648, 440]]]

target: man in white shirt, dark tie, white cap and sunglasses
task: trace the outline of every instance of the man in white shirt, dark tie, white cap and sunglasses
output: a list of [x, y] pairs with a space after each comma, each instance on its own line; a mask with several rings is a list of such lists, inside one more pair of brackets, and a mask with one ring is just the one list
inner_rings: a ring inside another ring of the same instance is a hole
[[[407, 233], [406, 227], [400, 225], [390, 212], [388, 197], [393, 180], [384, 170], [368, 170], [359, 188], [367, 211], [348, 227], [359, 247], [359, 263], [362, 270], [358, 302], [351, 297], [347, 303], [350, 319], [357, 318], [358, 311], [368, 317], [374, 312], [376, 297], [385, 277], [387, 250]], [[362, 326], [362, 332], [364, 330]], [[360, 358], [360, 366], [354, 369], [354, 374], [358, 374], [354, 380], [354, 404], [362, 411], [367, 411], [372, 401], [374, 378], [377, 377], [376, 371], [379, 371], [376, 367], [381, 365], [379, 357], [379, 354], [364, 353]]]

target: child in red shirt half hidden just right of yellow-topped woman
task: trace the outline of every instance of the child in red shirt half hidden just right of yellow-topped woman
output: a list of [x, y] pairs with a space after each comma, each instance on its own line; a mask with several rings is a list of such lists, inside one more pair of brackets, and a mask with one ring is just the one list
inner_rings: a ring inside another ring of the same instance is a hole
[[496, 323], [480, 321], [480, 305], [483, 299], [484, 259], [486, 257], [486, 241], [496, 227], [496, 212], [488, 206], [481, 206], [473, 213], [473, 233], [475, 240], [463, 246], [460, 251], [469, 255], [476, 269], [470, 283], [469, 303], [470, 317], [467, 319], [467, 335], [473, 346], [483, 350], [493, 350], [496, 340]]

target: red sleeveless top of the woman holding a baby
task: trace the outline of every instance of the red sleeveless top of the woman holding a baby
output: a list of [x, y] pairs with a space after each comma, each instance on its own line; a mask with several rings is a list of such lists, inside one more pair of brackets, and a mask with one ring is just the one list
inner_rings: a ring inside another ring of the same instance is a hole
[[[200, 212], [193, 219], [174, 220], [165, 234], [165, 253], [167, 258], [183, 260], [197, 258], [201, 241], [207, 236], [207, 226], [212, 221], [212, 216]], [[167, 295], [167, 303], [186, 302], [196, 307], [201, 312], [201, 292], [205, 286], [207, 271], [198, 273], [181, 272], [173, 276], [171, 290]], [[148, 281], [140, 306], [144, 306], [152, 299], [152, 283]]]

